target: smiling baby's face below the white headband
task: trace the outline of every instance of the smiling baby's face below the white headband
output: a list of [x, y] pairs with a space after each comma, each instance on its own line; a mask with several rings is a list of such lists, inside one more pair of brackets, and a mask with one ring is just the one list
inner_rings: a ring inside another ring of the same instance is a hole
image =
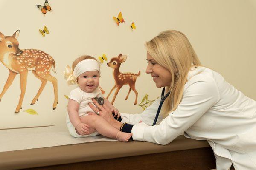
[[98, 71], [86, 71], [77, 77], [79, 87], [87, 92], [93, 92], [99, 86], [99, 72]]

